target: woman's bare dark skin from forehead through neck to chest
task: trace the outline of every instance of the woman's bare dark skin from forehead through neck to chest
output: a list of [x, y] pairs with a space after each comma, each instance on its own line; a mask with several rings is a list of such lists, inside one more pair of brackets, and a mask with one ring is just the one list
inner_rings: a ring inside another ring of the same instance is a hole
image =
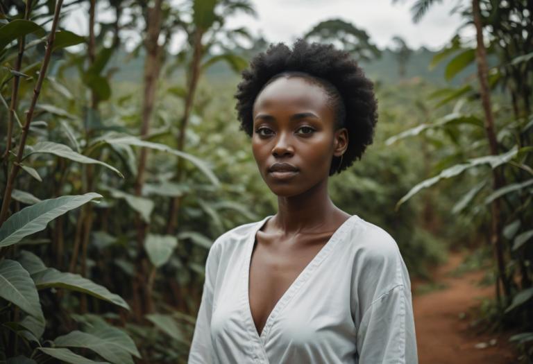
[[[285, 291], [350, 217], [328, 195], [332, 158], [347, 147], [347, 130], [336, 127], [330, 96], [320, 85], [282, 76], [255, 99], [253, 155], [278, 196], [278, 214], [257, 232], [250, 263], [248, 300], [259, 335]], [[297, 171], [270, 171], [277, 162]]]

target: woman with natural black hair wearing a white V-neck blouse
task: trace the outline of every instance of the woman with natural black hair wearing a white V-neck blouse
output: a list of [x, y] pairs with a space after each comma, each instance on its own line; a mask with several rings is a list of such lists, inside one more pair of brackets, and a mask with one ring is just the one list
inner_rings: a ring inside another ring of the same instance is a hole
[[417, 363], [396, 242], [328, 196], [372, 143], [373, 84], [348, 53], [298, 40], [257, 55], [236, 97], [278, 213], [212, 245], [189, 363]]

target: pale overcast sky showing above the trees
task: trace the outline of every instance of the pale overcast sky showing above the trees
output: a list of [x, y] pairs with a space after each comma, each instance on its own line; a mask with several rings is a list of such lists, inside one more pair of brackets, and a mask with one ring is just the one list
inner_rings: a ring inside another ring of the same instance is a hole
[[[257, 18], [238, 15], [228, 19], [228, 24], [232, 28], [246, 26], [255, 35], [262, 33], [269, 42], [292, 42], [320, 21], [340, 18], [364, 29], [380, 48], [391, 45], [395, 35], [403, 37], [414, 49], [420, 46], [441, 48], [461, 25], [459, 15], [450, 15], [452, 8], [464, 4], [466, 0], [436, 2], [418, 24], [413, 23], [410, 11], [414, 1], [251, 0], [257, 10]], [[109, 20], [109, 16], [112, 13], [97, 13], [99, 19]], [[78, 34], [86, 34], [87, 9], [73, 12], [65, 25]], [[472, 35], [473, 32], [466, 28], [462, 34]]]

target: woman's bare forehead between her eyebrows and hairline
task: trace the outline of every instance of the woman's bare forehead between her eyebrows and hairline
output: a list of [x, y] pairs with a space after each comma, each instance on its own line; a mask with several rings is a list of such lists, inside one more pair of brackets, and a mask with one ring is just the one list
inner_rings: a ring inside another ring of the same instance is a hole
[[329, 96], [325, 90], [298, 76], [282, 76], [264, 87], [255, 98], [253, 114], [258, 112], [315, 112], [321, 117], [331, 116]]

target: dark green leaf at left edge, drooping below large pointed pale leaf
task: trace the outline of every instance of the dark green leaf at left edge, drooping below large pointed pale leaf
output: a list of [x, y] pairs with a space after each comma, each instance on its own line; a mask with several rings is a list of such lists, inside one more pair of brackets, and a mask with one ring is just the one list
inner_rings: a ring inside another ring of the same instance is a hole
[[18, 261], [0, 261], [0, 297], [44, 321], [37, 288], [30, 274]]

